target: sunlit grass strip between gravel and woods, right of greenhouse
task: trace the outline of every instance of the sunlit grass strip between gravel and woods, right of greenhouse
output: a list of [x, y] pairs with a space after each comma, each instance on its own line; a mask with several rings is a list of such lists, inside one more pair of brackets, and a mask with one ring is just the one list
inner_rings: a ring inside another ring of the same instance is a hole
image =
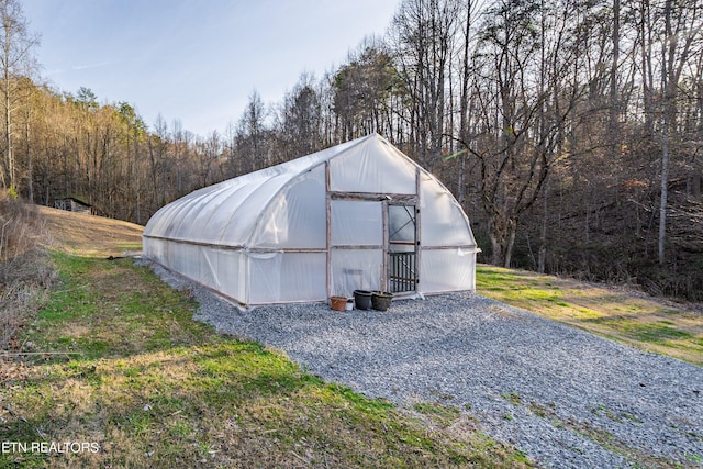
[[629, 346], [703, 366], [703, 313], [632, 292], [479, 265], [477, 291]]

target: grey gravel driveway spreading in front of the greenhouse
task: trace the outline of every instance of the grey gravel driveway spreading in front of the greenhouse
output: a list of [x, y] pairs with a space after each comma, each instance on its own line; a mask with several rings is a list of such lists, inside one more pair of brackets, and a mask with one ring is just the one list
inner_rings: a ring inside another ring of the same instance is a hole
[[191, 288], [197, 320], [284, 350], [309, 372], [400, 405], [437, 401], [555, 468], [703, 467], [703, 368], [472, 293], [239, 311]]

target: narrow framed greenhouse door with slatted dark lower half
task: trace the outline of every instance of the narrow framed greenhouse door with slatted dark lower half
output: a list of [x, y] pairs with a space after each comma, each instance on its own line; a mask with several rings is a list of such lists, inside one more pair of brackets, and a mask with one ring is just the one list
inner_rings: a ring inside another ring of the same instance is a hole
[[391, 293], [417, 286], [417, 212], [415, 205], [388, 205], [388, 288]]

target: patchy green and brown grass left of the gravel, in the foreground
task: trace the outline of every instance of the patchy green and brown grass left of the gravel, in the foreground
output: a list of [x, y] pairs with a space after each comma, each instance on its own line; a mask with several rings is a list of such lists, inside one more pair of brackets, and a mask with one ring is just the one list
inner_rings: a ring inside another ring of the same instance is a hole
[[457, 409], [398, 409], [215, 334], [131, 259], [54, 258], [60, 281], [23, 337], [35, 355], [0, 361], [0, 433], [94, 446], [0, 467], [532, 466]]

